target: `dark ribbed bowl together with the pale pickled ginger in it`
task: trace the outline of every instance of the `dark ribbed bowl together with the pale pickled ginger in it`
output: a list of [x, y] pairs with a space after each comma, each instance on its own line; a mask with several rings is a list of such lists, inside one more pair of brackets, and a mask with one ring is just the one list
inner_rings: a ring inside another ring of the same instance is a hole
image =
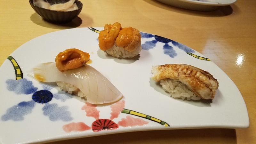
[[78, 0], [29, 0], [29, 3], [44, 20], [53, 23], [68, 23], [83, 8]]

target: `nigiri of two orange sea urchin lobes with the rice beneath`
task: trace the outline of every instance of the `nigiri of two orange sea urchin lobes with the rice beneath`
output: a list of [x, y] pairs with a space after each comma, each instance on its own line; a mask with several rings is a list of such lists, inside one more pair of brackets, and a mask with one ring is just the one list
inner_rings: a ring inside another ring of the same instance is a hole
[[140, 31], [136, 28], [122, 28], [121, 24], [106, 24], [99, 34], [100, 50], [116, 58], [132, 58], [142, 49]]

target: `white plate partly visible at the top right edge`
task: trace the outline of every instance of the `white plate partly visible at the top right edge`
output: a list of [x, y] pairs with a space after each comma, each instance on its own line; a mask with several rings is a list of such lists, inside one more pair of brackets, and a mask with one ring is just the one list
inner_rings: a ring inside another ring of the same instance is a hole
[[196, 10], [196, 11], [213, 11], [220, 6], [234, 4], [236, 0], [157, 0], [161, 3], [171, 6]]

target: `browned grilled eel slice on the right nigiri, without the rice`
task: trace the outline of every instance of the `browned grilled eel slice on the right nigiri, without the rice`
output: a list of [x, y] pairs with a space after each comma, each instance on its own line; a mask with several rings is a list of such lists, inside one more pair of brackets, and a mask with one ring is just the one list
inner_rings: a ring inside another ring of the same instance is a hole
[[186, 64], [165, 64], [152, 67], [152, 79], [176, 80], [185, 84], [189, 90], [202, 99], [213, 99], [218, 81], [207, 71]]

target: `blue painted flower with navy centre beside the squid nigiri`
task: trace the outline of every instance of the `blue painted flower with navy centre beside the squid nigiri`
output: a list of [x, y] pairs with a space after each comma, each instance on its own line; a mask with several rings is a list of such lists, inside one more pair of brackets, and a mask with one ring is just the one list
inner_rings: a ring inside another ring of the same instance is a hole
[[58, 104], [53, 103], [49, 104], [53, 98], [56, 100], [66, 101], [71, 99], [73, 96], [67, 93], [54, 93], [50, 90], [54, 87], [53, 84], [44, 84], [41, 83], [43, 90], [38, 90], [38, 88], [33, 86], [32, 81], [28, 81], [26, 78], [21, 78], [18, 80], [8, 79], [6, 81], [7, 89], [13, 91], [17, 95], [26, 94], [32, 95], [32, 100], [22, 101], [17, 105], [8, 108], [6, 113], [1, 116], [2, 121], [13, 120], [13, 121], [22, 121], [24, 116], [32, 112], [32, 109], [35, 107], [36, 103], [45, 104], [42, 110], [44, 111], [44, 116], [48, 116], [51, 121], [71, 121], [71, 113], [68, 111], [68, 106], [59, 107]]

